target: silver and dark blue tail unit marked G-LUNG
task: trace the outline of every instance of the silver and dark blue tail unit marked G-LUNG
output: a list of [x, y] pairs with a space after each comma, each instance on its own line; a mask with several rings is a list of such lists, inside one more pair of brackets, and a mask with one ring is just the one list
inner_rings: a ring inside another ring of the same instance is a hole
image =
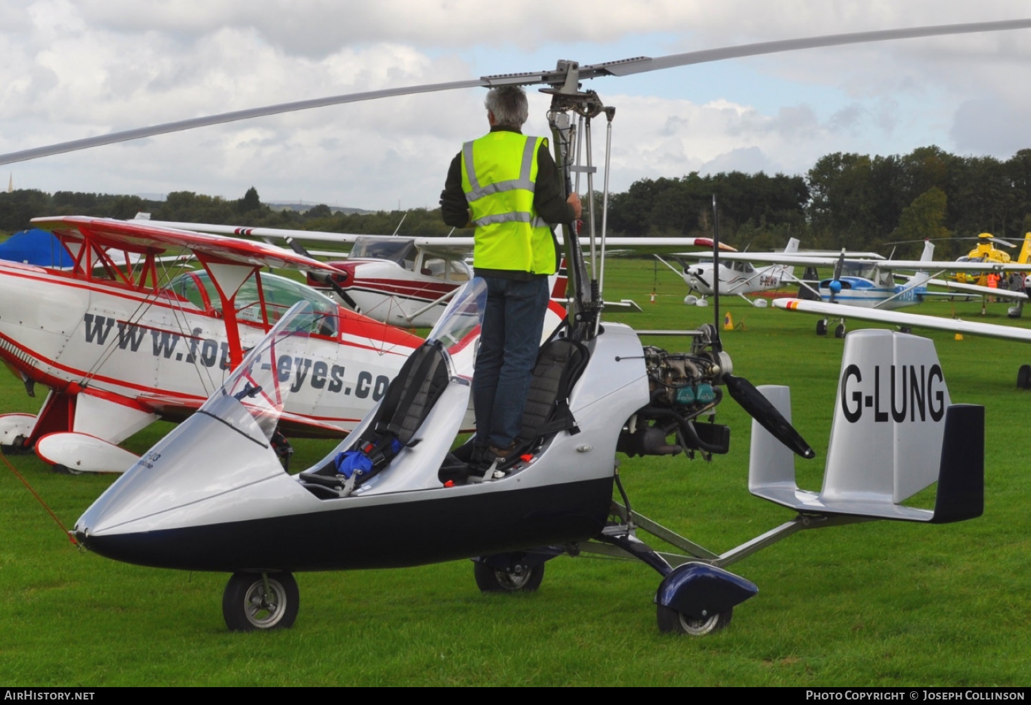
[[[788, 389], [760, 389], [790, 419]], [[984, 407], [952, 404], [931, 340], [856, 331], [841, 360], [823, 490], [799, 490], [791, 452], [756, 424], [749, 484], [807, 513], [958, 522], [984, 510]], [[933, 511], [900, 504], [934, 482]]]

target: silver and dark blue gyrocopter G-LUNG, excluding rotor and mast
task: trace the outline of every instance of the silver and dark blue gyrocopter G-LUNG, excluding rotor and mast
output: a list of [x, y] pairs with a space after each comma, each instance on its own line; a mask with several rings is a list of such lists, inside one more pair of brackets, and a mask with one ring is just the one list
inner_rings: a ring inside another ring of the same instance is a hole
[[[233, 630], [293, 625], [294, 571], [469, 558], [481, 591], [529, 591], [546, 561], [596, 552], [655, 569], [660, 630], [698, 635], [725, 627], [758, 592], [726, 567], [797, 531], [878, 518], [958, 522], [983, 511], [984, 408], [952, 404], [930, 340], [888, 331], [845, 341], [819, 493], [795, 482], [793, 452], [813, 454], [791, 428], [788, 388], [757, 390], [732, 375], [711, 326], [696, 332], [688, 354], [642, 347], [620, 324], [585, 339], [563, 329], [541, 348], [519, 452], [471, 465], [471, 441], [452, 447], [485, 300], [480, 279], [467, 283], [355, 432], [292, 476], [269, 439], [297, 372], [277, 375], [271, 361], [306, 355], [310, 337], [295, 310], [300, 323], [285, 316], [199, 413], [79, 517], [75, 536], [119, 561], [233, 573], [223, 595]], [[729, 429], [695, 423], [720, 403], [720, 384], [754, 418], [750, 490], [797, 512], [724, 553], [630, 509], [616, 460], [618, 449], [726, 452]], [[666, 444], [670, 429], [677, 445]], [[933, 510], [902, 504], [935, 481]], [[623, 504], [612, 501], [616, 490]], [[654, 550], [638, 537], [644, 531], [684, 552]], [[341, 536], [361, 539], [341, 547]]]

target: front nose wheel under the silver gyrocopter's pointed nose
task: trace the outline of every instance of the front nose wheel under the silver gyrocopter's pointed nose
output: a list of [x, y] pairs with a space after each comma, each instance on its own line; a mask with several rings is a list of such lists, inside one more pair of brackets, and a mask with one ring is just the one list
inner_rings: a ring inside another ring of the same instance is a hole
[[297, 619], [300, 591], [290, 573], [234, 573], [222, 594], [222, 616], [233, 632], [289, 629]]

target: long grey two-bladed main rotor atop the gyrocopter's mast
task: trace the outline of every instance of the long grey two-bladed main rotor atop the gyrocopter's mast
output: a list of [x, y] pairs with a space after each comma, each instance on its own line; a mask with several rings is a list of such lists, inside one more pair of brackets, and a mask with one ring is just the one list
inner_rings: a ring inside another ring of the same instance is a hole
[[[873, 41], [889, 41], [893, 39], [914, 39], [919, 37], [935, 37], [949, 34], [972, 34], [976, 32], [1002, 32], [1006, 30], [1031, 28], [1031, 20], [1004, 20], [1001, 22], [968, 23], [963, 25], [936, 25], [933, 27], [911, 27], [908, 29], [877, 30], [873, 32], [853, 32], [849, 34], [828, 34], [822, 37], [807, 37], [802, 39], [781, 39], [778, 41], [761, 41], [754, 44], [741, 44], [739, 46], [726, 46], [723, 48], [702, 49], [700, 52], [688, 52], [686, 54], [673, 54], [666, 57], [653, 59], [651, 57], [635, 57], [633, 59], [622, 59], [601, 64], [581, 66], [577, 71], [578, 79], [598, 78], [600, 76], [629, 76], [645, 71], [658, 71], [661, 69], [674, 68], [677, 66], [688, 66], [691, 64], [704, 64], [725, 59], [739, 59], [742, 57], [756, 57], [765, 54], [779, 54], [781, 52], [795, 52], [805, 48], [820, 48], [824, 46], [841, 46], [843, 44], [861, 44]], [[307, 110], [309, 108], [326, 107], [328, 105], [340, 105], [342, 103], [355, 103], [363, 100], [375, 100], [378, 98], [391, 98], [395, 96], [406, 96], [419, 93], [434, 93], [437, 91], [453, 91], [456, 89], [494, 87], [494, 86], [563, 86], [569, 76], [567, 66], [560, 65], [559, 68], [535, 71], [528, 73], [504, 73], [493, 76], [483, 76], [480, 78], [470, 78], [467, 80], [455, 80], [445, 83], [426, 83], [423, 86], [408, 86], [404, 88], [385, 89], [381, 91], [366, 91], [363, 93], [350, 93], [340, 96], [330, 96], [328, 98], [314, 98], [311, 100], [300, 100], [293, 103], [279, 103], [265, 107], [248, 108], [245, 110], [234, 110], [223, 112], [217, 115], [203, 118], [192, 118], [174, 123], [163, 123], [152, 127], [138, 128], [135, 130], [125, 130], [112, 132], [107, 135], [97, 137], [87, 137], [70, 142], [60, 142], [47, 146], [24, 149], [22, 152], [11, 152], [0, 155], [0, 165], [11, 164], [13, 162], [24, 162], [40, 157], [60, 155], [66, 152], [77, 149], [88, 149], [90, 147], [103, 144], [114, 144], [131, 139], [142, 139], [155, 135], [163, 135], [169, 132], [179, 132], [181, 130], [193, 130], [194, 128], [207, 127], [209, 125], [221, 125], [239, 120], [250, 120], [264, 115], [274, 115], [282, 112], [293, 112], [295, 110]]]

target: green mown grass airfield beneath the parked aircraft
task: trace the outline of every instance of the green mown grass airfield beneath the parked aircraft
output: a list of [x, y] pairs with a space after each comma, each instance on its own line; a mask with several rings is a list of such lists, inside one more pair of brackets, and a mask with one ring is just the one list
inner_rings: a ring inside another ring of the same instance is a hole
[[[684, 284], [645, 261], [612, 260], [605, 295], [644, 313], [636, 328], [690, 328]], [[921, 312], [947, 315], [954, 304]], [[978, 317], [979, 303], [957, 303]], [[792, 387], [795, 426], [818, 451], [797, 461], [819, 489], [842, 341], [816, 318], [727, 299], [735, 373]], [[1005, 318], [1005, 304], [988, 321]], [[1027, 322], [1018, 322], [1028, 325]], [[855, 323], [852, 327], [861, 327]], [[71, 546], [0, 467], [0, 682], [8, 685], [1027, 685], [1031, 683], [1031, 362], [1018, 343], [931, 334], [954, 402], [987, 407], [986, 511], [946, 526], [871, 523], [803, 532], [733, 566], [760, 594], [723, 632], [662, 636], [657, 573], [638, 563], [562, 557], [536, 594], [480, 594], [467, 561], [393, 571], [299, 574], [292, 630], [235, 634], [221, 613], [224, 574], [123, 565]], [[684, 349], [680, 339], [647, 342]], [[0, 412], [41, 403], [0, 375]], [[727, 399], [731, 452], [711, 464], [623, 459], [634, 507], [713, 550], [792, 517], [746, 490], [749, 423]], [[130, 439], [141, 452], [167, 432]], [[295, 469], [332, 446], [297, 441]], [[112, 476], [66, 476], [8, 458], [71, 527]], [[370, 528], [370, 530], [374, 530]], [[433, 531], [413, 526], [412, 532]], [[303, 540], [303, 539], [299, 539]], [[444, 537], [442, 537], [444, 540]], [[362, 536], [340, 536], [340, 550]]]

